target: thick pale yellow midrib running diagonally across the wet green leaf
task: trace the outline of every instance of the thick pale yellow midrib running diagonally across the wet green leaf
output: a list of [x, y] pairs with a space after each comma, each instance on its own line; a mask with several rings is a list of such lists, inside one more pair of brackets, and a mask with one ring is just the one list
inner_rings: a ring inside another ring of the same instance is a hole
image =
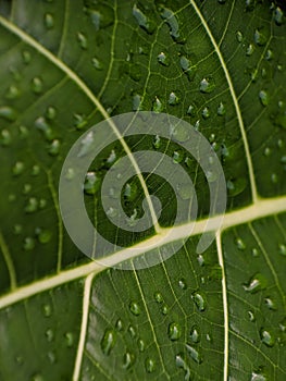
[[[228, 228], [282, 212], [286, 212], [286, 196], [261, 199], [254, 205], [226, 213], [224, 216], [223, 225], [221, 226], [220, 231], [216, 231], [216, 233], [222, 233]], [[133, 259], [136, 256], [146, 253], [147, 245], [160, 247], [175, 239], [184, 239], [204, 233], [208, 231], [208, 226], [215, 226], [216, 219], [221, 222], [221, 216], [217, 216], [210, 219], [206, 218], [203, 220], [196, 221], [195, 223], [186, 223], [184, 225], [164, 229], [161, 234], [157, 234], [153, 237], [135, 245], [133, 247], [133, 254], [130, 253], [130, 248], [124, 248], [104, 258], [104, 265], [100, 263], [99, 261], [91, 261], [90, 263], [79, 266], [72, 270], [65, 270], [57, 275], [36, 281], [23, 287], [18, 287], [0, 298], [0, 309], [24, 298], [30, 297], [35, 294], [41, 293], [46, 290], [50, 290], [63, 283], [85, 278], [90, 273], [99, 273], [103, 270], [107, 270], [108, 267], [116, 266], [127, 259]], [[208, 224], [208, 221], [210, 220], [212, 220], [213, 223]], [[191, 228], [192, 231], [190, 231]]]

